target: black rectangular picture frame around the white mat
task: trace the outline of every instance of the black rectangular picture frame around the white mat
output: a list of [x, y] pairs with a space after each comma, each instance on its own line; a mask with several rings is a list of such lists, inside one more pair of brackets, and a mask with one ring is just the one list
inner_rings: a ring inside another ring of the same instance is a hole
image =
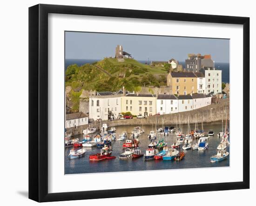
[[[48, 193], [48, 14], [79, 14], [243, 25], [243, 181]], [[39, 4], [29, 8], [29, 199], [38, 202], [99, 199], [249, 188], [249, 18]]]

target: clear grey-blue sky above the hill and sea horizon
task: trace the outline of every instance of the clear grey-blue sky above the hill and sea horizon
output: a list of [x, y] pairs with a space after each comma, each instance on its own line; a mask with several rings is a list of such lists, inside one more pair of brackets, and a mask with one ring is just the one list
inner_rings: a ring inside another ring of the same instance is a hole
[[185, 61], [188, 53], [211, 54], [215, 62], [229, 62], [229, 40], [151, 36], [113, 33], [65, 33], [65, 59], [101, 60], [115, 57], [115, 47], [132, 54], [135, 60]]

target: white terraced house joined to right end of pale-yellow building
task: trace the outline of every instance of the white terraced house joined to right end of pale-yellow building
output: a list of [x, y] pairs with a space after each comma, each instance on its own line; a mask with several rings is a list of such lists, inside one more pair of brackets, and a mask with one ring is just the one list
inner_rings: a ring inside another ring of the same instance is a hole
[[177, 113], [178, 98], [173, 94], [159, 94], [156, 100], [156, 113], [157, 114], [170, 114]]

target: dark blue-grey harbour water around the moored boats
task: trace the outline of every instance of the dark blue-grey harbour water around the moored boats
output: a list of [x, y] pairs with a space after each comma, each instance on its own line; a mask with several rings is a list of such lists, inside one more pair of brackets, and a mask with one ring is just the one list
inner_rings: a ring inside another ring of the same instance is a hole
[[[127, 131], [131, 133], [135, 126], [116, 126], [116, 136]], [[140, 149], [142, 153], [145, 153], [148, 148], [150, 140], [148, 139], [149, 131], [155, 130], [155, 126], [142, 126], [145, 133], [140, 135]], [[157, 128], [161, 127], [160, 125]], [[195, 125], [190, 125], [191, 129], [194, 129]], [[199, 129], [201, 125], [198, 126]], [[79, 174], [79, 173], [104, 173], [104, 172], [128, 172], [128, 171], [144, 171], [144, 170], [166, 170], [166, 169], [185, 169], [185, 168], [202, 168], [202, 167], [221, 167], [229, 166], [229, 157], [221, 162], [210, 162], [210, 157], [216, 155], [216, 147], [219, 145], [221, 138], [218, 138], [217, 134], [222, 130], [221, 122], [213, 122], [203, 125], [204, 131], [208, 132], [210, 129], [214, 130], [214, 136], [209, 137], [209, 148], [205, 151], [188, 150], [184, 151], [185, 157], [180, 162], [176, 161], [163, 161], [163, 160], [144, 160], [143, 157], [136, 159], [122, 160], [119, 159], [119, 155], [123, 153], [122, 144], [123, 141], [114, 140], [112, 141], [112, 156], [116, 156], [115, 159], [105, 159], [101, 161], [89, 161], [89, 155], [99, 153], [100, 148], [97, 147], [86, 147], [86, 153], [84, 157], [78, 159], [69, 159], [68, 153], [72, 147], [65, 148], [65, 174]], [[183, 133], [187, 133], [187, 126], [183, 125]], [[92, 134], [93, 137], [96, 133]], [[75, 138], [82, 140], [84, 135], [78, 135]], [[168, 136], [164, 137], [171, 146], [175, 140], [175, 132], [169, 133]], [[198, 140], [195, 140], [196, 142]], [[230, 141], [230, 140], [229, 140]], [[79, 148], [78, 148], [79, 149]], [[180, 146], [182, 150], [182, 145]], [[227, 147], [229, 152], [229, 146]]]

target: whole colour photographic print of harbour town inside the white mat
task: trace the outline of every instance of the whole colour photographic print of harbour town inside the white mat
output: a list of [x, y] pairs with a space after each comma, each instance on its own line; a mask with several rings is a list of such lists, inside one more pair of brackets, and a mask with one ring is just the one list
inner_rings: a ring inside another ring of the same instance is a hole
[[65, 174], [229, 166], [229, 39], [65, 31]]

